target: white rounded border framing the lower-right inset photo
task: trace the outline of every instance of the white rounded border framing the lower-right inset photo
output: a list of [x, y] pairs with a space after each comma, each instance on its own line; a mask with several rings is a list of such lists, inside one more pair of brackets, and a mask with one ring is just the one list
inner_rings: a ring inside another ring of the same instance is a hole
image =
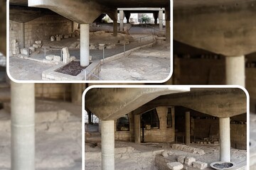
[[92, 85], [87, 87], [85, 91], [82, 93], [82, 170], [85, 170], [85, 94], [90, 89], [94, 88], [170, 88], [170, 89], [188, 89], [188, 88], [238, 88], [242, 89], [242, 91], [245, 92], [246, 98], [247, 98], [247, 165], [246, 169], [250, 169], [250, 96], [248, 91], [238, 85], [191, 85], [191, 86], [185, 86], [185, 85]]

